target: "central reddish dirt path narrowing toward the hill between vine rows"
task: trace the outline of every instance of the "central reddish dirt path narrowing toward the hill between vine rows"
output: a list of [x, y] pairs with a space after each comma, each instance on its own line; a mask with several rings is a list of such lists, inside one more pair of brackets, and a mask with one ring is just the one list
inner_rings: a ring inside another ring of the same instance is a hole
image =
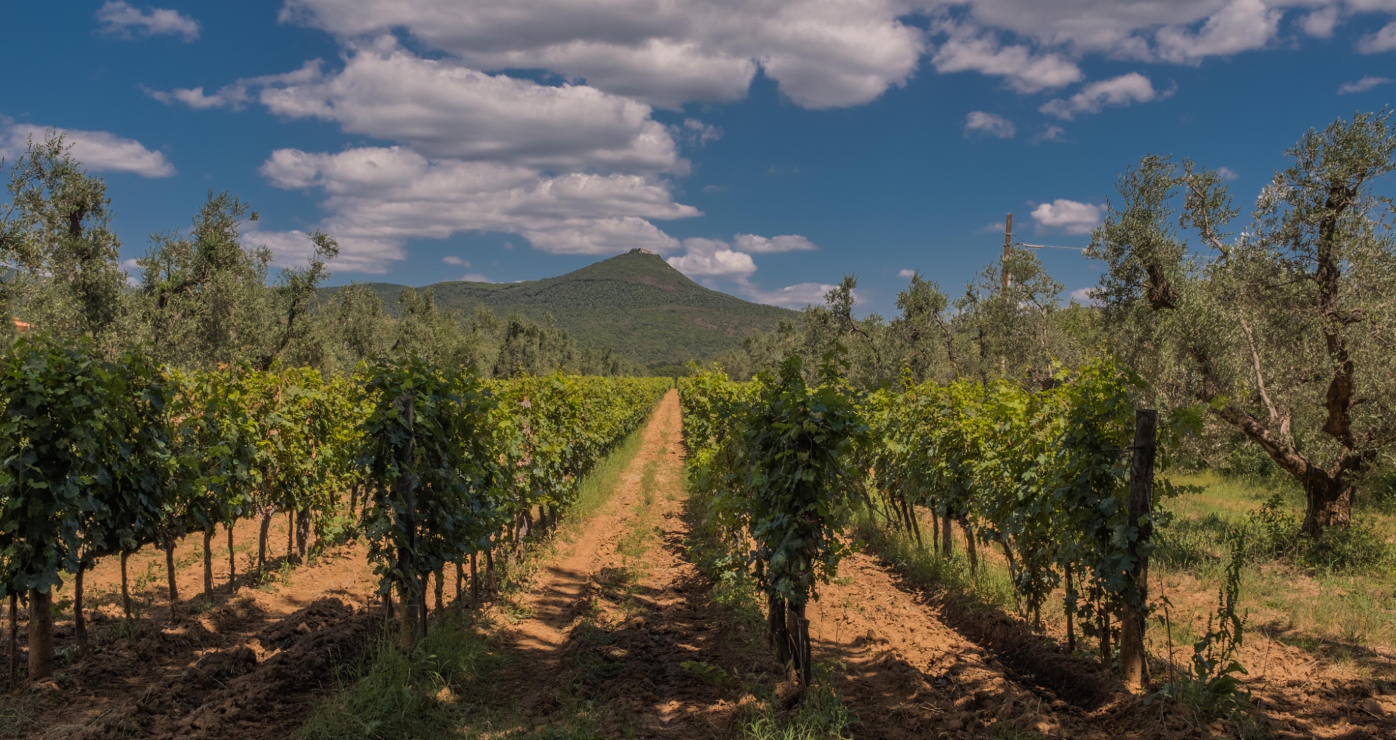
[[752, 656], [687, 560], [680, 441], [670, 392], [610, 500], [560, 542], [519, 600], [529, 619], [501, 634], [511, 658], [501, 683], [524, 722], [558, 722], [595, 701], [604, 737], [727, 734], [744, 693], [736, 676]]

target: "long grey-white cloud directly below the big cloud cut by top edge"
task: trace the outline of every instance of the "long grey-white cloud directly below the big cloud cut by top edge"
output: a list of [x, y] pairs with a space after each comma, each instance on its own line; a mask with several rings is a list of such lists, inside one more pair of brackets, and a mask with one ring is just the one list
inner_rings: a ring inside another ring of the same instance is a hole
[[219, 98], [246, 99], [253, 88], [272, 113], [336, 121], [345, 131], [406, 142], [431, 158], [621, 172], [687, 168], [645, 103], [588, 85], [542, 85], [423, 59], [392, 36], [350, 49], [338, 73], [310, 64], [239, 81]]

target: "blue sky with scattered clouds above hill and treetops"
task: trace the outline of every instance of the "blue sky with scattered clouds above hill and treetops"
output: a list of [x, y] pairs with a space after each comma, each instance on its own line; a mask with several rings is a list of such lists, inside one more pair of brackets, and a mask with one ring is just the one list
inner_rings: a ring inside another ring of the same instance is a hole
[[[121, 256], [212, 191], [335, 283], [508, 282], [635, 247], [762, 303], [895, 314], [1018, 240], [1083, 247], [1192, 158], [1252, 202], [1396, 94], [1396, 0], [243, 0], [0, 6], [0, 156], [61, 130]], [[1044, 249], [1082, 296], [1101, 265]], [[134, 271], [134, 264], [130, 265]]]

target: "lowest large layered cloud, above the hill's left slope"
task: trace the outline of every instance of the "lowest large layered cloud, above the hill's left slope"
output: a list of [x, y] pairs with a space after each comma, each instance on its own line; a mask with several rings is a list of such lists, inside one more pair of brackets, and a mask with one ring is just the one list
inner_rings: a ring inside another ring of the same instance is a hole
[[[670, 251], [678, 242], [651, 223], [701, 215], [674, 202], [663, 180], [639, 175], [565, 173], [494, 162], [427, 159], [402, 147], [338, 154], [278, 149], [261, 166], [274, 186], [318, 188], [321, 228], [363, 247], [357, 267], [383, 271], [409, 237], [461, 232], [518, 233], [554, 254]], [[343, 251], [343, 250], [342, 250]]]

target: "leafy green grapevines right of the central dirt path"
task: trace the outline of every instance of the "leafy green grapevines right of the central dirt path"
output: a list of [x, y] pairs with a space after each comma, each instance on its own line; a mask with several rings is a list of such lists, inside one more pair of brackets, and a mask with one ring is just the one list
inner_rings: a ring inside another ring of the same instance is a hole
[[[917, 542], [930, 519], [931, 547], [946, 557], [959, 526], [976, 577], [979, 549], [1000, 549], [1018, 610], [1037, 626], [1062, 588], [1068, 652], [1079, 627], [1108, 665], [1118, 635], [1121, 670], [1139, 680], [1156, 441], [1191, 420], [1156, 430], [1153, 412], [1136, 413], [1131, 398], [1141, 381], [1106, 360], [1048, 385], [861, 392], [832, 363], [807, 373], [799, 360], [744, 384], [720, 371], [680, 383], [695, 483], [712, 496], [734, 567], [766, 595], [782, 660], [808, 679], [805, 603], [836, 572], [845, 528], [866, 507]], [[1136, 429], [1136, 416], [1149, 422]], [[1134, 505], [1131, 478], [1143, 484]], [[1167, 480], [1157, 487], [1175, 493]]]

